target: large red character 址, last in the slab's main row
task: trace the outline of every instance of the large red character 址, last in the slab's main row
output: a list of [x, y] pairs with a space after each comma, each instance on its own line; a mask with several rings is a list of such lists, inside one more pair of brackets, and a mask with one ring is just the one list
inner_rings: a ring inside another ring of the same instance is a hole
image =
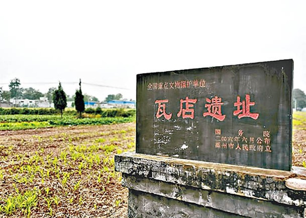
[[[242, 110], [240, 106], [242, 105]], [[237, 102], [234, 103], [234, 106], [237, 107], [237, 110], [234, 111], [234, 116], [238, 115], [238, 119], [242, 117], [250, 117], [254, 120], [257, 120], [259, 114], [258, 113], [251, 113], [250, 106], [255, 105], [255, 102], [250, 101], [250, 95], [245, 95], [245, 101], [240, 102], [240, 96], [237, 96]]]

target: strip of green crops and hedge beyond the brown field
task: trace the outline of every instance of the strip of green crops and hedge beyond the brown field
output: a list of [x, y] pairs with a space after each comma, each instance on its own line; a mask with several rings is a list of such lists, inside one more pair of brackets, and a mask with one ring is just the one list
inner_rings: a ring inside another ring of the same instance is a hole
[[[36, 129], [54, 126], [108, 125], [135, 121], [134, 109], [92, 109], [85, 110], [84, 118], [76, 110], [67, 110], [63, 118], [53, 114], [55, 109], [0, 108], [0, 130]], [[34, 115], [33, 115], [34, 114]], [[52, 114], [52, 115], [39, 115]]]

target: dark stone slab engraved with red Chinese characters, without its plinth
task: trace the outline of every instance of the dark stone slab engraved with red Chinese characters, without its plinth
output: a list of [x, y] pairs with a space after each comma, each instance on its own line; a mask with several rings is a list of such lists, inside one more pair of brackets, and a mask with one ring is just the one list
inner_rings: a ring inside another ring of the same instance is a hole
[[292, 60], [137, 75], [136, 152], [291, 169]]

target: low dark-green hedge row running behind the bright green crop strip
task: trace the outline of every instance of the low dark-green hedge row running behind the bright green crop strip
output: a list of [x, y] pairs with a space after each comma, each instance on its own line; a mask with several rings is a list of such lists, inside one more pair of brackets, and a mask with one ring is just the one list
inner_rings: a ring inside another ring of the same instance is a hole
[[[59, 114], [58, 110], [54, 108], [1, 108], [0, 115], [54, 115]], [[86, 108], [84, 113], [86, 114], [99, 114], [101, 117], [130, 117], [135, 115], [135, 109], [101, 109], [101, 108]], [[64, 115], [77, 115], [76, 110], [66, 110]]]

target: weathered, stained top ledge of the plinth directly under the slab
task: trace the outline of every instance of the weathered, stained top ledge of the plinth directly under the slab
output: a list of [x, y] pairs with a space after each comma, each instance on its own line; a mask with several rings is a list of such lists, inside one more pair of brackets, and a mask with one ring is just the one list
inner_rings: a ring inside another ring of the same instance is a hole
[[115, 156], [115, 168], [136, 177], [306, 207], [306, 191], [286, 186], [289, 178], [306, 179], [300, 168], [269, 170], [135, 153]]

